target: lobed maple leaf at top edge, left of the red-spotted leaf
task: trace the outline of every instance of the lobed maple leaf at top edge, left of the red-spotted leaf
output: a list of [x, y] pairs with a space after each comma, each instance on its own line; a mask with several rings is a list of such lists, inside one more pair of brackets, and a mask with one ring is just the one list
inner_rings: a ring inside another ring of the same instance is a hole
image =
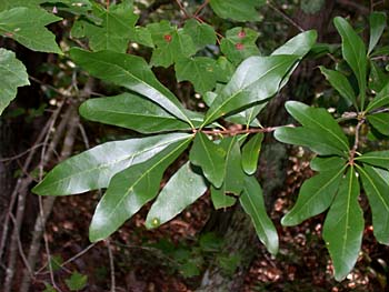
[[138, 16], [133, 13], [132, 3], [124, 1], [120, 4], [111, 4], [109, 10], [94, 4], [94, 16], [102, 22], [94, 24], [89, 20], [80, 20], [83, 21], [89, 47], [93, 51], [111, 50], [124, 53], [130, 38], [136, 33], [134, 24], [138, 20]]

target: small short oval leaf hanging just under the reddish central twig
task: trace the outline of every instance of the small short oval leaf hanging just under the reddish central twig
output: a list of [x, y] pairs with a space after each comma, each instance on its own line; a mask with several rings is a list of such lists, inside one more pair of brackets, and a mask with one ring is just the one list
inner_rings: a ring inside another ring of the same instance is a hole
[[257, 133], [242, 148], [242, 168], [249, 175], [257, 171], [262, 140], [263, 133]]

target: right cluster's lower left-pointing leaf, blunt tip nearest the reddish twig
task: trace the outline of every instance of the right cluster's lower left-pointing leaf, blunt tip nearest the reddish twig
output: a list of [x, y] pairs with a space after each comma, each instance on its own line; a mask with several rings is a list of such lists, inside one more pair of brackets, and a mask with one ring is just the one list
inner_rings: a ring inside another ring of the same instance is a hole
[[327, 135], [305, 127], [278, 128], [275, 131], [275, 138], [282, 143], [307, 147], [319, 155], [347, 155], [346, 151], [341, 151], [338, 147], [332, 145], [332, 141]]

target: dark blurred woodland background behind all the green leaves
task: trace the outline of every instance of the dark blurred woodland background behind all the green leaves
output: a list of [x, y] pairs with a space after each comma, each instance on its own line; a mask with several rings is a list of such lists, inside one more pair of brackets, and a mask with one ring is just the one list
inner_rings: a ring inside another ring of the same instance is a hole
[[[180, 26], [184, 16], [178, 3], [188, 12], [194, 12], [203, 1], [136, 0], [138, 24], [166, 19]], [[259, 33], [256, 44], [260, 54], [267, 56], [297, 34], [298, 27], [316, 29], [319, 42], [337, 44], [333, 17], [347, 17], [362, 31], [370, 11], [388, 8], [388, 1], [378, 0], [273, 0], [259, 9], [259, 22], [221, 20], [209, 7], [203, 8], [201, 18], [220, 36], [237, 26], [251, 28]], [[77, 16], [61, 10], [59, 13], [63, 13], [66, 20], [49, 29], [60, 46], [64, 49], [84, 46], [70, 33]], [[386, 31], [381, 43], [388, 41]], [[329, 255], [321, 239], [323, 215], [296, 228], [279, 224], [296, 201], [301, 182], [312, 175], [308, 163], [311, 154], [305, 149], [279, 144], [271, 137], [266, 139], [258, 177], [280, 235], [280, 252], [276, 258], [258, 242], [249, 219], [239, 208], [215, 211], [209, 194], [153, 231], [143, 226], [148, 205], [109, 241], [90, 244], [88, 226], [101, 192], [42, 202], [29, 190], [42, 174], [43, 164], [47, 171], [87, 148], [137, 135], [84, 121], [77, 114], [78, 105], [86, 98], [116, 94], [119, 89], [89, 78], [66, 56], [32, 52], [6, 38], [0, 38], [0, 47], [17, 53], [31, 82], [30, 87], [19, 89], [17, 99], [0, 118], [0, 282], [7, 282], [6, 271], [13, 261], [17, 272], [8, 280], [11, 291], [22, 291], [22, 286], [27, 286], [26, 291], [56, 291], [52, 280], [58, 291], [389, 291], [389, 249], [376, 242], [369, 224], [357, 266], [341, 283], [331, 276]], [[130, 43], [128, 50], [150, 60], [151, 49], [147, 47]], [[215, 46], [201, 53], [217, 57], [220, 52]], [[318, 64], [333, 67], [337, 58], [336, 52], [308, 58], [269, 109], [260, 114], [261, 122], [283, 124], [288, 119], [283, 110], [287, 100], [333, 107], [342, 113], [340, 97], [317, 69]], [[377, 61], [383, 75], [388, 74], [387, 61], [385, 58]], [[187, 108], [199, 111], [205, 108], [191, 83], [177, 82], [172, 67], [153, 68], [153, 71]], [[48, 131], [51, 131], [49, 144]], [[373, 134], [370, 138], [366, 148], [378, 143]], [[380, 139], [380, 143], [388, 145], [388, 141]], [[43, 145], [51, 149], [44, 158], [41, 157]], [[22, 215], [18, 215], [20, 193], [26, 203]], [[362, 202], [363, 205], [367, 209]], [[42, 210], [47, 214], [44, 232], [37, 221]], [[371, 224], [370, 218], [366, 220]], [[20, 226], [20, 236], [13, 235], [14, 226]], [[31, 260], [31, 246], [39, 252], [36, 251], [29, 271], [26, 261]]]

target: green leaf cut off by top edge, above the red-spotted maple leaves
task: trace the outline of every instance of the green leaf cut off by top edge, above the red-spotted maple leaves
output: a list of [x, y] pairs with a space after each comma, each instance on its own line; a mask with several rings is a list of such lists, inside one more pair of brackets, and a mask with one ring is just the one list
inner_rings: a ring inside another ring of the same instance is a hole
[[259, 21], [257, 8], [266, 3], [265, 0], [210, 0], [212, 10], [220, 18], [237, 21]]

